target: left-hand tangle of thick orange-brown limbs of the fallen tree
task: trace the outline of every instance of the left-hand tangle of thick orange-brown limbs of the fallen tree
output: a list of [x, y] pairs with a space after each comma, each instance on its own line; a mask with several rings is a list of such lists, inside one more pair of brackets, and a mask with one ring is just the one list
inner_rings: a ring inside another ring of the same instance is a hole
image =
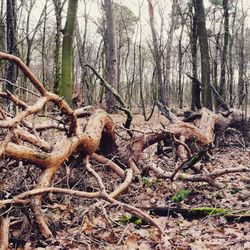
[[[122, 177], [125, 175], [124, 171], [115, 163], [108, 163], [106, 158], [94, 154], [97, 150], [108, 153], [112, 152], [115, 148], [114, 124], [110, 116], [103, 110], [95, 110], [92, 113], [87, 112], [89, 118], [86, 124], [84, 126], [80, 125], [78, 117], [86, 116], [86, 110], [72, 110], [61, 97], [46, 91], [43, 85], [19, 58], [0, 52], [0, 59], [16, 63], [40, 94], [40, 97], [33, 105], [27, 105], [9, 92], [1, 94], [2, 98], [12, 101], [16, 106], [23, 109], [15, 116], [6, 116], [4, 111], [2, 112], [3, 119], [0, 120], [0, 127], [8, 129], [9, 133], [5, 136], [1, 144], [1, 150], [5, 157], [25, 163], [32, 163], [34, 166], [38, 166], [42, 169], [35, 189], [21, 193], [12, 199], [2, 200], [0, 206], [27, 203], [26, 198], [32, 196], [31, 199], [28, 200], [28, 203], [32, 205], [40, 232], [46, 238], [52, 237], [52, 232], [41, 210], [42, 196], [45, 192], [53, 191], [84, 198], [100, 198], [106, 200], [111, 204], [123, 207], [126, 211], [136, 216], [142, 217], [149, 223], [157, 226], [162, 232], [160, 226], [154, 222], [149, 215], [133, 206], [123, 204], [114, 199], [114, 197], [128, 188], [133, 176], [131, 171], [128, 172], [125, 182], [109, 195], [105, 190], [100, 176], [89, 164], [88, 159], [89, 156], [92, 155], [96, 160], [102, 163], [105, 162], [105, 164], [110, 166], [118, 175]], [[59, 120], [64, 124], [63, 127], [52, 123], [46, 123], [46, 125], [40, 126], [30, 124], [27, 118], [42, 112], [44, 106], [49, 102], [54, 104], [61, 112], [61, 118], [59, 118]], [[123, 109], [126, 109], [125, 104], [122, 104], [122, 106]], [[127, 114], [130, 114], [130, 112], [127, 112], [128, 110], [125, 111]], [[132, 118], [132, 116], [128, 116], [126, 127], [129, 127], [128, 124], [131, 122], [130, 118]], [[65, 131], [65, 135], [57, 140], [55, 144], [52, 144], [40, 139], [36, 134], [38, 130], [49, 128], [62, 129]], [[76, 154], [80, 154], [82, 159], [86, 159], [85, 167], [96, 178], [100, 187], [99, 192], [86, 193], [83, 191], [53, 189], [50, 187], [56, 172], [63, 163]]]

